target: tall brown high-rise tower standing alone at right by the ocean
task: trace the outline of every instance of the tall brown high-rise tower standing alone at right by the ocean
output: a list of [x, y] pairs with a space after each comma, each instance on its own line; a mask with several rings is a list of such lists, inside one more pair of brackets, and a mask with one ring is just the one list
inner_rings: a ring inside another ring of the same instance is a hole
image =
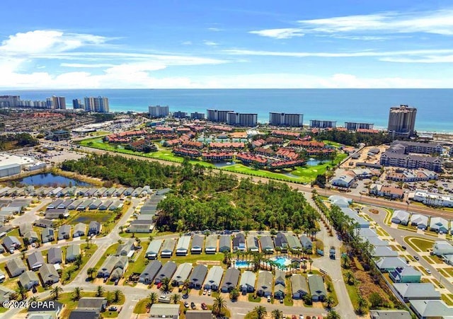
[[390, 108], [387, 131], [393, 137], [412, 137], [415, 130], [416, 108], [400, 105]]

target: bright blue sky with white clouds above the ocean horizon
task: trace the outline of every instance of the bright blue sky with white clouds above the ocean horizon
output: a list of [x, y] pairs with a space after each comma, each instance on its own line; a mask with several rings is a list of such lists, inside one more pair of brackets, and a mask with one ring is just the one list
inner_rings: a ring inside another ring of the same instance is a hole
[[452, 88], [427, 2], [2, 0], [0, 88]]

